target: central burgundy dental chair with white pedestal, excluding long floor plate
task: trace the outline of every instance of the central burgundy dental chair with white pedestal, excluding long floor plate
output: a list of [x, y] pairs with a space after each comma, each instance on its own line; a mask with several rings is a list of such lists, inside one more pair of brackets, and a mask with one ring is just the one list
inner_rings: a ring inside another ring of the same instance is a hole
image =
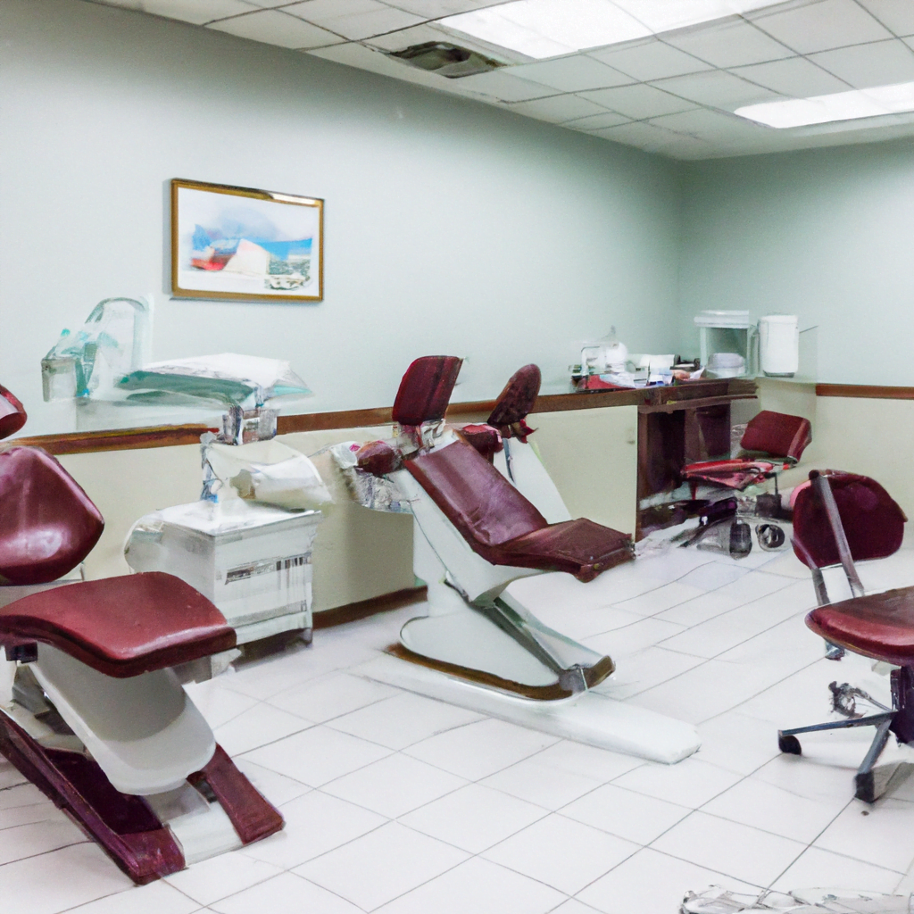
[[[400, 640], [449, 672], [525, 695], [567, 697], [609, 675], [610, 658], [546, 629], [507, 587], [543, 571], [592, 580], [632, 559], [631, 537], [584, 518], [550, 524], [487, 459], [493, 435], [501, 440], [494, 427], [458, 435], [445, 426], [460, 366], [452, 356], [413, 362], [393, 409], [398, 441], [359, 452], [361, 469], [387, 473], [416, 519], [416, 573], [429, 582], [430, 615], [407, 622]], [[523, 419], [507, 411], [503, 418], [505, 425]], [[477, 450], [468, 443], [474, 439], [484, 446]], [[504, 643], [495, 659], [493, 639]]]

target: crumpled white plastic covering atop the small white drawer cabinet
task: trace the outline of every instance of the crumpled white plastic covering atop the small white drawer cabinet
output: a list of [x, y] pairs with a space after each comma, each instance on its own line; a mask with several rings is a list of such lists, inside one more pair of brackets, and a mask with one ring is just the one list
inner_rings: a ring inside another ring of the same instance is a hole
[[237, 493], [249, 501], [292, 511], [324, 513], [333, 504], [314, 463], [282, 441], [241, 445], [213, 441], [204, 446], [204, 461], [221, 484], [220, 498]]

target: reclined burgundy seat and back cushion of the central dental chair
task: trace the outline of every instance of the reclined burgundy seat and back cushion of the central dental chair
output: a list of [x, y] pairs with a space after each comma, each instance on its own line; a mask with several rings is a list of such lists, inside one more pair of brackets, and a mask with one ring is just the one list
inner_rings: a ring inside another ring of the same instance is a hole
[[406, 463], [473, 551], [493, 565], [569, 571], [580, 580], [632, 558], [629, 537], [589, 520], [549, 525], [473, 447], [454, 441]]

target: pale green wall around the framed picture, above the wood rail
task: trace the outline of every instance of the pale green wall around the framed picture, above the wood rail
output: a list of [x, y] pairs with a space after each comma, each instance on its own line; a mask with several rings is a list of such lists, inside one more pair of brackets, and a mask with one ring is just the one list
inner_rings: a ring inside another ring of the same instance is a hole
[[[68, 430], [39, 362], [112, 295], [155, 293], [155, 358], [287, 358], [313, 411], [389, 405], [430, 353], [470, 356], [472, 400], [531, 361], [568, 389], [611, 324], [632, 351], [675, 348], [670, 160], [81, 0], [3, 0], [0, 35], [0, 380], [27, 432]], [[324, 197], [324, 302], [169, 301], [174, 177]]]

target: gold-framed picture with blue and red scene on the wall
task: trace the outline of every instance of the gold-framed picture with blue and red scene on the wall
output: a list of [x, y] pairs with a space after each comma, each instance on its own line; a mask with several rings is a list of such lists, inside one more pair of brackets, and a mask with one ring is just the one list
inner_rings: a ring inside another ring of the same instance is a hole
[[323, 200], [175, 178], [171, 242], [176, 297], [324, 298]]

